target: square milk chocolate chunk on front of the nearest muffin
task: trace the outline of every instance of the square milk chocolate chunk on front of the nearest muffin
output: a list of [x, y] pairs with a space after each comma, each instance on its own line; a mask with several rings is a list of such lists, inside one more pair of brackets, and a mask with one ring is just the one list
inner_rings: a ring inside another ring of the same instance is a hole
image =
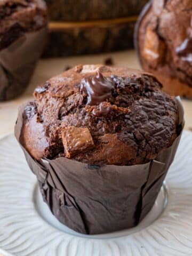
[[61, 135], [66, 157], [68, 158], [94, 147], [91, 133], [87, 128], [69, 126], [62, 129]]

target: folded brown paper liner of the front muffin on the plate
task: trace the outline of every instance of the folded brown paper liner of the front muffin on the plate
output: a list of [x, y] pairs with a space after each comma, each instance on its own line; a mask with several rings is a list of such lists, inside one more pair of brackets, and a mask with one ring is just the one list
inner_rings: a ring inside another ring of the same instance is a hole
[[15, 137], [36, 175], [44, 201], [67, 227], [84, 234], [131, 228], [151, 210], [179, 145], [184, 119], [176, 98], [181, 132], [156, 159], [132, 166], [95, 166], [60, 157], [36, 161], [22, 147], [20, 134], [25, 106], [19, 109]]

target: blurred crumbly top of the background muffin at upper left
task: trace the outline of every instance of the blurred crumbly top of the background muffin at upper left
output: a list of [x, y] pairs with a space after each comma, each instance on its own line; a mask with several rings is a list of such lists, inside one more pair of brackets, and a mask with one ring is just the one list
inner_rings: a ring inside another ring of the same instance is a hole
[[46, 26], [47, 10], [43, 0], [0, 1], [0, 50], [25, 32]]

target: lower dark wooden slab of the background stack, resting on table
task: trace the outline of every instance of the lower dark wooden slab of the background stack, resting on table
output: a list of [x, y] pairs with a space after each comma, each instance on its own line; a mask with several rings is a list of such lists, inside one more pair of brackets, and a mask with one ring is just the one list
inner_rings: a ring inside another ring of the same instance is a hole
[[43, 57], [130, 49], [136, 20], [134, 16], [92, 22], [51, 22]]

